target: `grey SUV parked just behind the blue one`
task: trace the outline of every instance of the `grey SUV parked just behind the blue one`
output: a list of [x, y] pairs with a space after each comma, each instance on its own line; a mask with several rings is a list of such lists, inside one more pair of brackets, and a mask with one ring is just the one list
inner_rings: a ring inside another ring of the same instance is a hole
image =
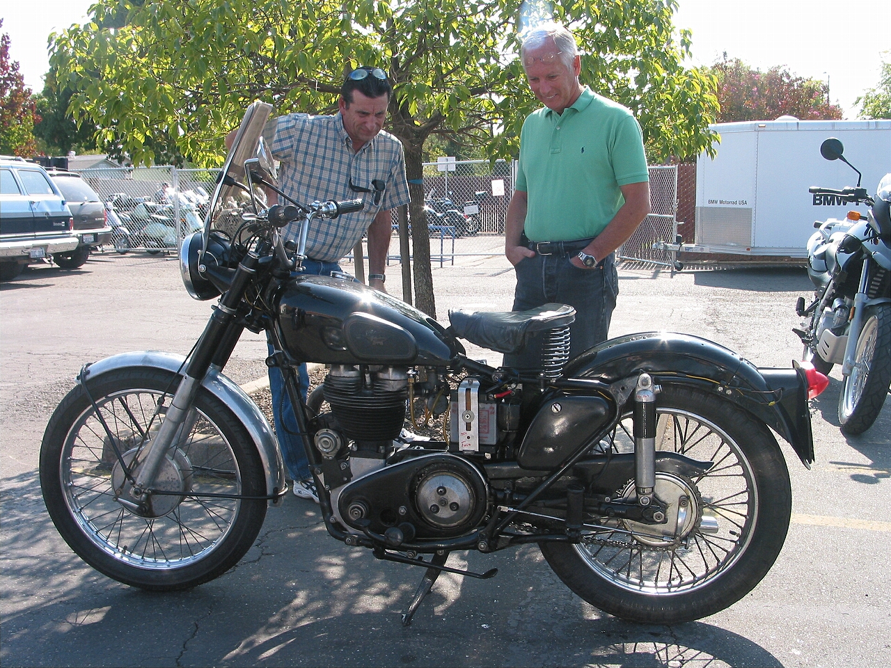
[[63, 169], [51, 169], [48, 174], [68, 202], [74, 217], [74, 233], [78, 236], [78, 248], [54, 253], [53, 260], [65, 269], [77, 269], [90, 257], [91, 249], [110, 244], [112, 231], [108, 213], [99, 193], [79, 174]]

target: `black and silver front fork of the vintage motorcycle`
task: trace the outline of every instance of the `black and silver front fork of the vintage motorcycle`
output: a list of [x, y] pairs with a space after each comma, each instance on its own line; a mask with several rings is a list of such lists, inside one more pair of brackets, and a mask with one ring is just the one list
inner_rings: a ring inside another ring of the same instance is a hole
[[238, 307], [244, 297], [245, 290], [257, 273], [258, 256], [249, 252], [235, 272], [232, 286], [220, 297], [217, 308], [210, 316], [204, 332], [195, 346], [189, 364], [185, 370], [185, 377], [176, 388], [173, 400], [167, 410], [164, 420], [158, 429], [158, 433], [151, 439], [142, 461], [137, 464], [134, 485], [130, 489], [130, 495], [137, 501], [146, 501], [150, 495], [151, 486], [154, 485], [164, 457], [170, 449], [179, 441], [179, 436], [184, 433], [188, 422], [194, 420], [192, 403], [201, 382], [207, 375], [211, 364], [222, 365], [224, 355], [221, 351], [225, 348], [226, 359], [232, 354], [232, 349], [241, 335], [241, 325], [236, 321]]

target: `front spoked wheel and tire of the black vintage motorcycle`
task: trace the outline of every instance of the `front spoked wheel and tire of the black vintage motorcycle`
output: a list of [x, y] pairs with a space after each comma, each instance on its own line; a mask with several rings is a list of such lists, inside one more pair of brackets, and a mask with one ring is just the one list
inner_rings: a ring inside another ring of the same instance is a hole
[[159, 427], [159, 400], [169, 405], [176, 384], [175, 374], [153, 368], [88, 380], [89, 395], [78, 385], [59, 404], [40, 449], [46, 509], [65, 542], [102, 574], [150, 591], [190, 589], [224, 574], [266, 517], [264, 500], [202, 496], [266, 495], [247, 430], [203, 388], [186, 420], [191, 428], [156, 483], [177, 494], [152, 496], [151, 517], [117, 501], [115, 488], [124, 482], [118, 453], [125, 461], [136, 456]]

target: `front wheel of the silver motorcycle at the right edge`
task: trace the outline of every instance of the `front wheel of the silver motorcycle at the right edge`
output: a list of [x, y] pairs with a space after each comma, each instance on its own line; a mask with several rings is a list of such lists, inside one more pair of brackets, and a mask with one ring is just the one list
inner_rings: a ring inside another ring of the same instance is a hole
[[854, 369], [842, 378], [838, 422], [849, 436], [862, 434], [879, 417], [891, 385], [891, 304], [870, 306], [863, 313]]

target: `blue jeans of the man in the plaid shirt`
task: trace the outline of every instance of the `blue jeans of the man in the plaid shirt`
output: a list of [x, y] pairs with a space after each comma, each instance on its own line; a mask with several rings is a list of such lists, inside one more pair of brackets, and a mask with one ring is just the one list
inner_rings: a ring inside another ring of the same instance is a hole
[[[294, 275], [312, 273], [319, 276], [330, 276], [332, 272], [342, 272], [336, 262], [320, 262], [318, 260], [304, 260], [303, 272]], [[269, 354], [273, 354], [273, 346], [269, 346]], [[309, 391], [309, 373], [307, 365], [298, 366], [298, 388], [303, 401], [307, 401]], [[284, 388], [282, 371], [277, 367], [269, 367], [269, 391], [273, 395], [273, 420], [275, 423], [275, 436], [278, 437], [279, 448], [282, 450], [284, 465], [288, 468], [291, 480], [307, 480], [309, 478], [309, 461], [307, 452], [303, 448], [303, 439], [298, 434], [297, 418], [294, 417], [294, 407], [290, 404], [288, 393]]]

